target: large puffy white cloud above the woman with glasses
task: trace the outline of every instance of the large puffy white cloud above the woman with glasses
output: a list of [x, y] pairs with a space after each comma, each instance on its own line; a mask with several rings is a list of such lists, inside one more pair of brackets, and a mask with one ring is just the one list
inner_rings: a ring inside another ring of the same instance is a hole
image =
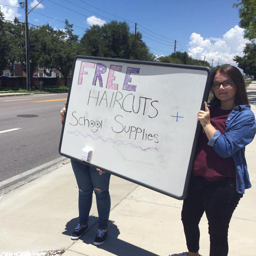
[[[227, 31], [222, 38], [203, 38], [200, 34], [192, 33], [190, 36], [190, 48], [188, 54], [196, 59], [204, 60], [204, 56], [208, 62], [213, 65], [234, 63], [235, 55], [243, 56], [243, 50], [249, 41], [243, 38], [244, 30], [239, 26], [235, 26]], [[235, 65], [235, 64], [233, 64]]]

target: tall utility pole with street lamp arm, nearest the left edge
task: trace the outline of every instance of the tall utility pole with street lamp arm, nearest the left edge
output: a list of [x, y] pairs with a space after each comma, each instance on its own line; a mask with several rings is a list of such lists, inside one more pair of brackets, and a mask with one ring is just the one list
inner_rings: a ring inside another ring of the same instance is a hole
[[27, 8], [27, 0], [22, 0], [20, 2], [21, 8], [25, 7], [25, 42], [26, 42], [26, 73], [27, 73], [27, 91], [31, 91], [30, 86], [30, 56], [29, 56], [29, 31], [28, 31], [28, 14], [30, 14], [31, 11], [33, 11], [39, 4], [41, 4], [43, 0], [41, 0], [32, 10], [28, 12]]

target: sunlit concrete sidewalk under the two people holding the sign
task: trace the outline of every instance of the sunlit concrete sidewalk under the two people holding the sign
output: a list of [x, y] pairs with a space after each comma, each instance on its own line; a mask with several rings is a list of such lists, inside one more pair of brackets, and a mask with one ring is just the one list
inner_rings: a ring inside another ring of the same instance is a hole
[[[253, 99], [255, 94], [250, 94]], [[256, 114], [255, 103], [252, 110]], [[229, 228], [229, 255], [254, 256], [256, 242], [256, 139], [246, 147], [252, 188], [239, 202]], [[70, 162], [0, 194], [0, 255], [65, 249], [63, 256], [167, 256], [186, 251], [182, 201], [111, 176], [108, 239], [93, 245], [97, 231], [95, 197], [89, 231], [77, 241], [78, 188]], [[200, 253], [209, 255], [208, 224], [200, 223]], [[4, 253], [5, 252], [5, 253]], [[30, 255], [36, 255], [32, 253]]]

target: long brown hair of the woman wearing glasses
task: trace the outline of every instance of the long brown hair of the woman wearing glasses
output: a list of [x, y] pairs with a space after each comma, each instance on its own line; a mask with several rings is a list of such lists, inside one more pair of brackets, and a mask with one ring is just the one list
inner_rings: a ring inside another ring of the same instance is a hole
[[[214, 71], [213, 78], [218, 73], [228, 75], [235, 82], [235, 85], [236, 85], [235, 105], [236, 106], [249, 105], [247, 92], [245, 89], [244, 78], [241, 72], [239, 71], [239, 69], [236, 68], [235, 66], [230, 66], [230, 65], [221, 66], [220, 68]], [[211, 98], [211, 101], [220, 102], [220, 100], [215, 96], [212, 87], [210, 90], [210, 98]]]

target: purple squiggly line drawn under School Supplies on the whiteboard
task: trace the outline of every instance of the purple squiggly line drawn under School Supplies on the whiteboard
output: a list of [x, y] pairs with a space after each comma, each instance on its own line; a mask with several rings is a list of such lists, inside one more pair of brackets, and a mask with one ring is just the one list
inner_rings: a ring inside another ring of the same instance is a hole
[[129, 141], [126, 141], [126, 142], [123, 142], [122, 140], [114, 141], [112, 138], [104, 138], [102, 136], [96, 136], [95, 134], [89, 134], [89, 133], [84, 134], [81, 131], [68, 131], [68, 133], [69, 134], [73, 133], [76, 136], [81, 134], [84, 138], [90, 137], [93, 140], [101, 139], [103, 142], [106, 142], [106, 143], [111, 142], [111, 143], [114, 143], [116, 145], [129, 145], [132, 148], [142, 150], [143, 152], [148, 151], [148, 150], [151, 150], [151, 151], [154, 150], [154, 151], [159, 152], [158, 148], [145, 148], [145, 149], [143, 149], [141, 146], [134, 145], [134, 144], [130, 143]]

